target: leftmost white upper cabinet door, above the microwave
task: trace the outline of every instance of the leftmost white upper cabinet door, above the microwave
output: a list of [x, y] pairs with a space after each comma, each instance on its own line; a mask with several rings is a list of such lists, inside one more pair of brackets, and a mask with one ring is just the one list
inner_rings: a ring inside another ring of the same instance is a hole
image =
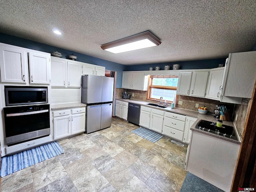
[[26, 83], [26, 52], [22, 49], [0, 46], [1, 82]]

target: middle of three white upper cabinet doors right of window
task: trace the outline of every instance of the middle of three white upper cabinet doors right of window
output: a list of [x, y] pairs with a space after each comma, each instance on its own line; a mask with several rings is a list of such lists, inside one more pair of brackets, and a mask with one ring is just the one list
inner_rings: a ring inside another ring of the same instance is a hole
[[190, 96], [204, 97], [209, 71], [194, 71], [190, 86]]

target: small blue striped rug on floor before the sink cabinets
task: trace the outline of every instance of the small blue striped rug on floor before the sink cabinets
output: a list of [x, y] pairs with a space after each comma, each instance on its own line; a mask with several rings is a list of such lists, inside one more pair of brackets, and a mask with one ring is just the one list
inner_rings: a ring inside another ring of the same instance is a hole
[[146, 140], [153, 142], [153, 143], [157, 142], [158, 140], [160, 140], [160, 138], [163, 137], [161, 134], [156, 133], [156, 132], [149, 130], [147, 128], [144, 128], [144, 127], [140, 127], [136, 130], [133, 130], [132, 132]]

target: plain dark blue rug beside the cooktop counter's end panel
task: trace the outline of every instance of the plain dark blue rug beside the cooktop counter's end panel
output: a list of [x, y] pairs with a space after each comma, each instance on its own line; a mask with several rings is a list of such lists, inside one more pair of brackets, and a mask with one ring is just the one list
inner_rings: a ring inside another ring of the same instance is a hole
[[201, 178], [187, 172], [180, 192], [224, 192], [218, 187], [202, 180]]

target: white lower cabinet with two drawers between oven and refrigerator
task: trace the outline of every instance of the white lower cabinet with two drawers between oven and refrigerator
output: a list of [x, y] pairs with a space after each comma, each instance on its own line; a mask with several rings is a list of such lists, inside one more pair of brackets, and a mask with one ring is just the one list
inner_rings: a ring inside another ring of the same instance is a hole
[[85, 107], [53, 112], [54, 140], [85, 131]]

